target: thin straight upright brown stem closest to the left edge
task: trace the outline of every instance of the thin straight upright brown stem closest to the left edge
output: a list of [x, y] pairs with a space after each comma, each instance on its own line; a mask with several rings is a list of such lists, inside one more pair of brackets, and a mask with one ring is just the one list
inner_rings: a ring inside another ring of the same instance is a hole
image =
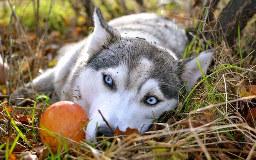
[[9, 88], [7, 90], [7, 94], [11, 94], [11, 88], [12, 88], [12, 16], [13, 16], [13, 12], [11, 14], [10, 17], [10, 23], [9, 23], [9, 58], [10, 58], [10, 62], [9, 62]]

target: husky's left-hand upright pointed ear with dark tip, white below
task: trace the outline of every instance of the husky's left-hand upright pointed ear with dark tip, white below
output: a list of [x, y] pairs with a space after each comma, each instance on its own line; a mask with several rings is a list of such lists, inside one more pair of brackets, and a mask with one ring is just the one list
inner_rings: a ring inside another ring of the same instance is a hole
[[106, 41], [114, 36], [120, 36], [120, 33], [112, 28], [106, 20], [104, 20], [100, 8], [94, 10], [94, 31], [87, 39], [88, 54], [91, 56], [103, 46]]

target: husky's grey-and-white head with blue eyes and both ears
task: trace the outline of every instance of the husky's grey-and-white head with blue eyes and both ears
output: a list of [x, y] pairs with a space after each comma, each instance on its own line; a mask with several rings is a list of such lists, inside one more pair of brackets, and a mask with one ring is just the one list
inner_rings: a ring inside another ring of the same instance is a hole
[[[189, 90], [201, 76], [194, 58], [176, 60], [165, 48], [140, 38], [121, 36], [102, 18], [96, 8], [95, 29], [84, 49], [89, 60], [82, 62], [74, 80], [74, 102], [91, 119], [86, 139], [112, 136], [102, 113], [113, 130], [148, 130], [154, 118], [178, 104], [184, 84]], [[205, 72], [213, 52], [197, 56]]]

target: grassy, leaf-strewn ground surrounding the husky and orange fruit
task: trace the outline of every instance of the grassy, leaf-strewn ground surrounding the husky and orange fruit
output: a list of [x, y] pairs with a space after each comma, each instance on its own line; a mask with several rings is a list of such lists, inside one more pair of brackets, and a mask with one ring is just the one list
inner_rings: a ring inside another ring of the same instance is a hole
[[[176, 109], [154, 120], [148, 132], [116, 132], [112, 142], [108, 138], [97, 143], [72, 142], [72, 148], [64, 147], [53, 154], [42, 145], [38, 133], [40, 117], [51, 96], [20, 95], [20, 103], [14, 106], [10, 94], [53, 67], [60, 46], [90, 34], [90, 13], [79, 0], [10, 0], [11, 6], [8, 2], [0, 1], [0, 52], [8, 64], [6, 82], [0, 86], [1, 159], [256, 158], [255, 15], [240, 30], [236, 43], [229, 46], [218, 38], [204, 40], [202, 33], [214, 32], [211, 28], [203, 30], [208, 25], [204, 1], [145, 0], [140, 4], [140, 0], [95, 0], [94, 5], [100, 6], [107, 20], [143, 11], [167, 16], [193, 35], [185, 56], [209, 48], [216, 48], [216, 54], [206, 75]], [[227, 2], [219, 2], [216, 17]]]

